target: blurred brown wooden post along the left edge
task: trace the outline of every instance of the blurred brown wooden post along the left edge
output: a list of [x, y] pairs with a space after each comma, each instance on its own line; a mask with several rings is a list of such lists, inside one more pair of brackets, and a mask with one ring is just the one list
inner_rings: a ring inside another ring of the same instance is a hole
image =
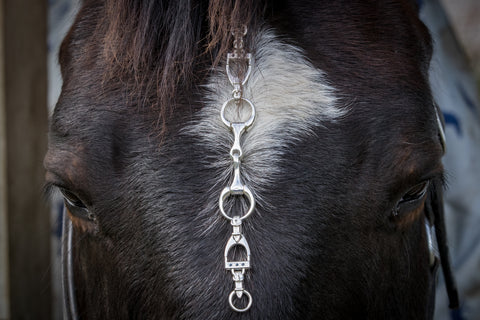
[[50, 319], [50, 220], [41, 196], [47, 1], [1, 0], [0, 10], [0, 257], [8, 256], [0, 262], [0, 317]]

